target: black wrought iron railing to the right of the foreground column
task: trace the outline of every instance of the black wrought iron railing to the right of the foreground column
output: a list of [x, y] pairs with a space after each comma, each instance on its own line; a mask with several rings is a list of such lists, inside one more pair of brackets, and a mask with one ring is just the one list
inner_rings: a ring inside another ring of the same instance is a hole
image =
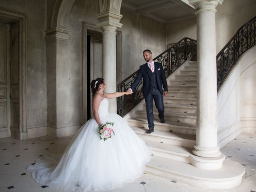
[[217, 55], [217, 90], [239, 57], [256, 44], [256, 16], [244, 24]]

